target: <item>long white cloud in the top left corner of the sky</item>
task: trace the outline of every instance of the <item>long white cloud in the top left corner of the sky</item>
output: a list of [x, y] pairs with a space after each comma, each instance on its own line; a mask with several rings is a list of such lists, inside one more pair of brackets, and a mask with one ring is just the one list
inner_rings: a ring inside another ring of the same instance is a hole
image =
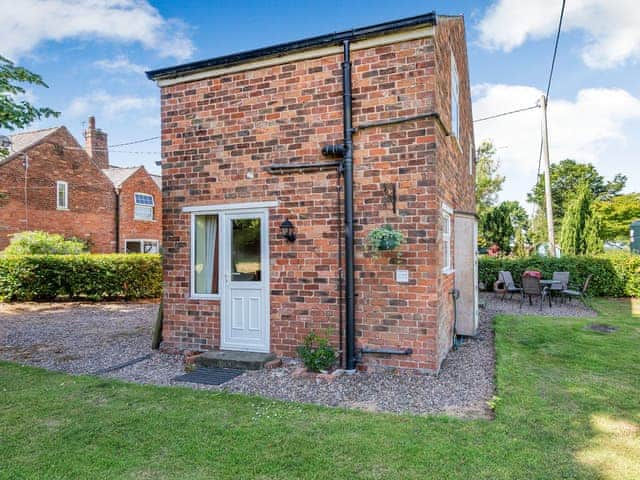
[[68, 38], [139, 42], [179, 60], [194, 52], [185, 25], [145, 0], [2, 0], [0, 6], [2, 54], [14, 60], [42, 42]]

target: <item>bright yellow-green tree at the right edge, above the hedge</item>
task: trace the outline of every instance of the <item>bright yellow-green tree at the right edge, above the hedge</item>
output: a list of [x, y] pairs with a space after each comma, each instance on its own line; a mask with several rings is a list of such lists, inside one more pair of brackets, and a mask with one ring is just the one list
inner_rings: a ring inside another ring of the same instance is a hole
[[616, 195], [594, 204], [602, 217], [602, 238], [622, 240], [629, 238], [629, 225], [640, 220], [640, 193]]

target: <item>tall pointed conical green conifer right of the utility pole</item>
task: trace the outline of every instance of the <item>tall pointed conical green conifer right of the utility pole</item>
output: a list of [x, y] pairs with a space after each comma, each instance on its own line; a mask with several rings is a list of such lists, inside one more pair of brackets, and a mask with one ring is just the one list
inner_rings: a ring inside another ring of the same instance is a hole
[[584, 255], [602, 251], [600, 230], [602, 222], [592, 214], [593, 194], [588, 184], [578, 187], [568, 202], [562, 220], [560, 249], [564, 255]]

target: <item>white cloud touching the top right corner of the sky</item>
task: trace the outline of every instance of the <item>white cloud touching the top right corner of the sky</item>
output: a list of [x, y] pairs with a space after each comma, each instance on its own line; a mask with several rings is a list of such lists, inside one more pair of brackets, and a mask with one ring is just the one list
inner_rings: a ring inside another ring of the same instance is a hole
[[[557, 0], [497, 0], [478, 24], [480, 44], [509, 52], [528, 39], [553, 37]], [[637, 0], [569, 0], [563, 31], [584, 33], [581, 56], [590, 68], [612, 68], [640, 59]]]

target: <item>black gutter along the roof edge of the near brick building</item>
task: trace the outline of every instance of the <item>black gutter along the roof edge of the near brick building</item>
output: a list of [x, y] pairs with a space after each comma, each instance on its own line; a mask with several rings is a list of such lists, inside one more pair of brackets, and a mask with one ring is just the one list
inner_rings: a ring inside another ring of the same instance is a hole
[[330, 45], [338, 45], [343, 43], [344, 41], [353, 42], [356, 40], [363, 40], [368, 37], [417, 27], [420, 25], [435, 24], [436, 13], [431, 12], [424, 15], [417, 15], [415, 17], [402, 18], [400, 20], [378, 23], [376, 25], [370, 25], [368, 27], [354, 28], [342, 32], [330, 33], [327, 35], [305, 38], [293, 42], [281, 43], [270, 47], [248, 50], [231, 55], [224, 55], [222, 57], [214, 57], [208, 60], [200, 60], [197, 62], [185, 63], [173, 67], [159, 68], [146, 72], [146, 75], [150, 80], [176, 78], [182, 75], [194, 73], [201, 70], [207, 70], [210, 68], [237, 65], [240, 63], [255, 60], [257, 58], [279, 57], [291, 52], [311, 50]]

